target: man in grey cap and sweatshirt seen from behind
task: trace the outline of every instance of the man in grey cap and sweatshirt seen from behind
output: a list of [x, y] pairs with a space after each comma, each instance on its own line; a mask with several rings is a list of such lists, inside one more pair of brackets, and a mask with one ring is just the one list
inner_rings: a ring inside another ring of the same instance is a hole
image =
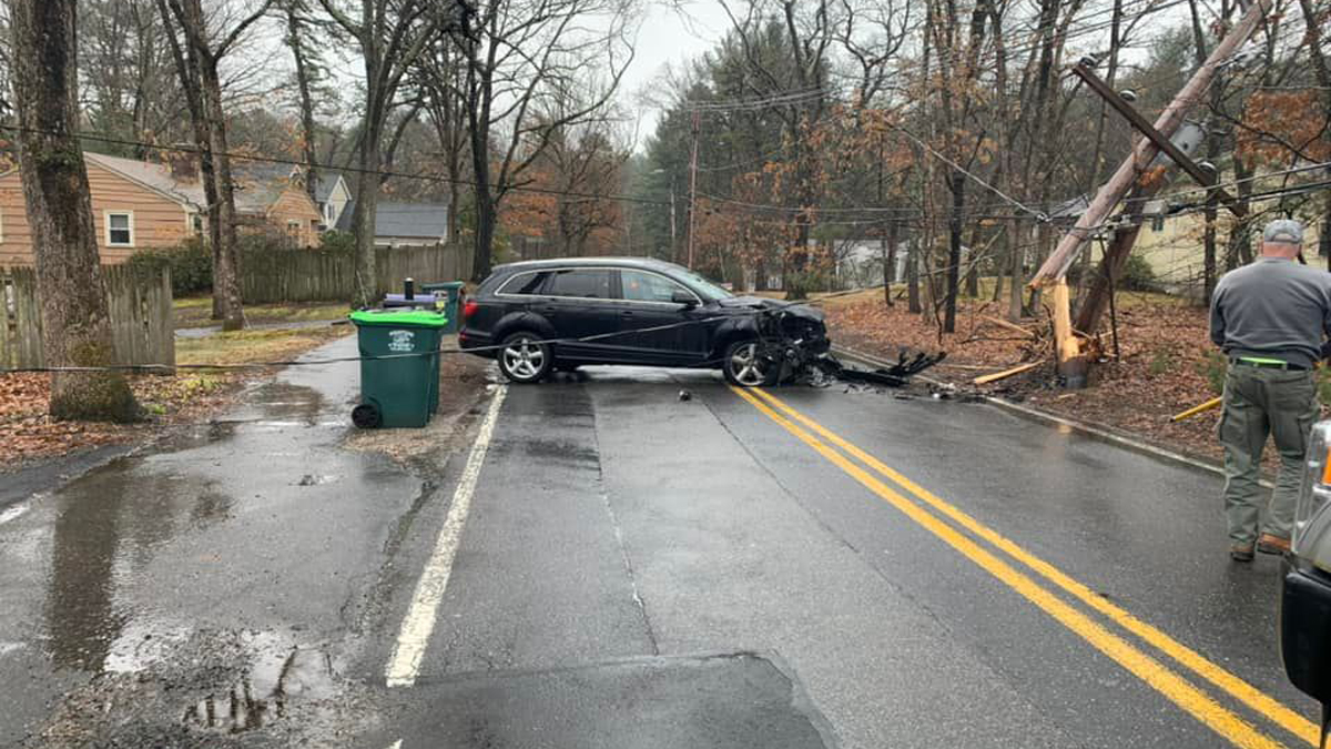
[[[1211, 341], [1230, 360], [1225, 377], [1225, 514], [1230, 557], [1290, 550], [1308, 430], [1320, 414], [1312, 368], [1331, 335], [1331, 273], [1294, 263], [1303, 225], [1280, 219], [1262, 232], [1262, 257], [1226, 273], [1211, 299]], [[1258, 536], [1262, 450], [1275, 438], [1280, 472]]]

